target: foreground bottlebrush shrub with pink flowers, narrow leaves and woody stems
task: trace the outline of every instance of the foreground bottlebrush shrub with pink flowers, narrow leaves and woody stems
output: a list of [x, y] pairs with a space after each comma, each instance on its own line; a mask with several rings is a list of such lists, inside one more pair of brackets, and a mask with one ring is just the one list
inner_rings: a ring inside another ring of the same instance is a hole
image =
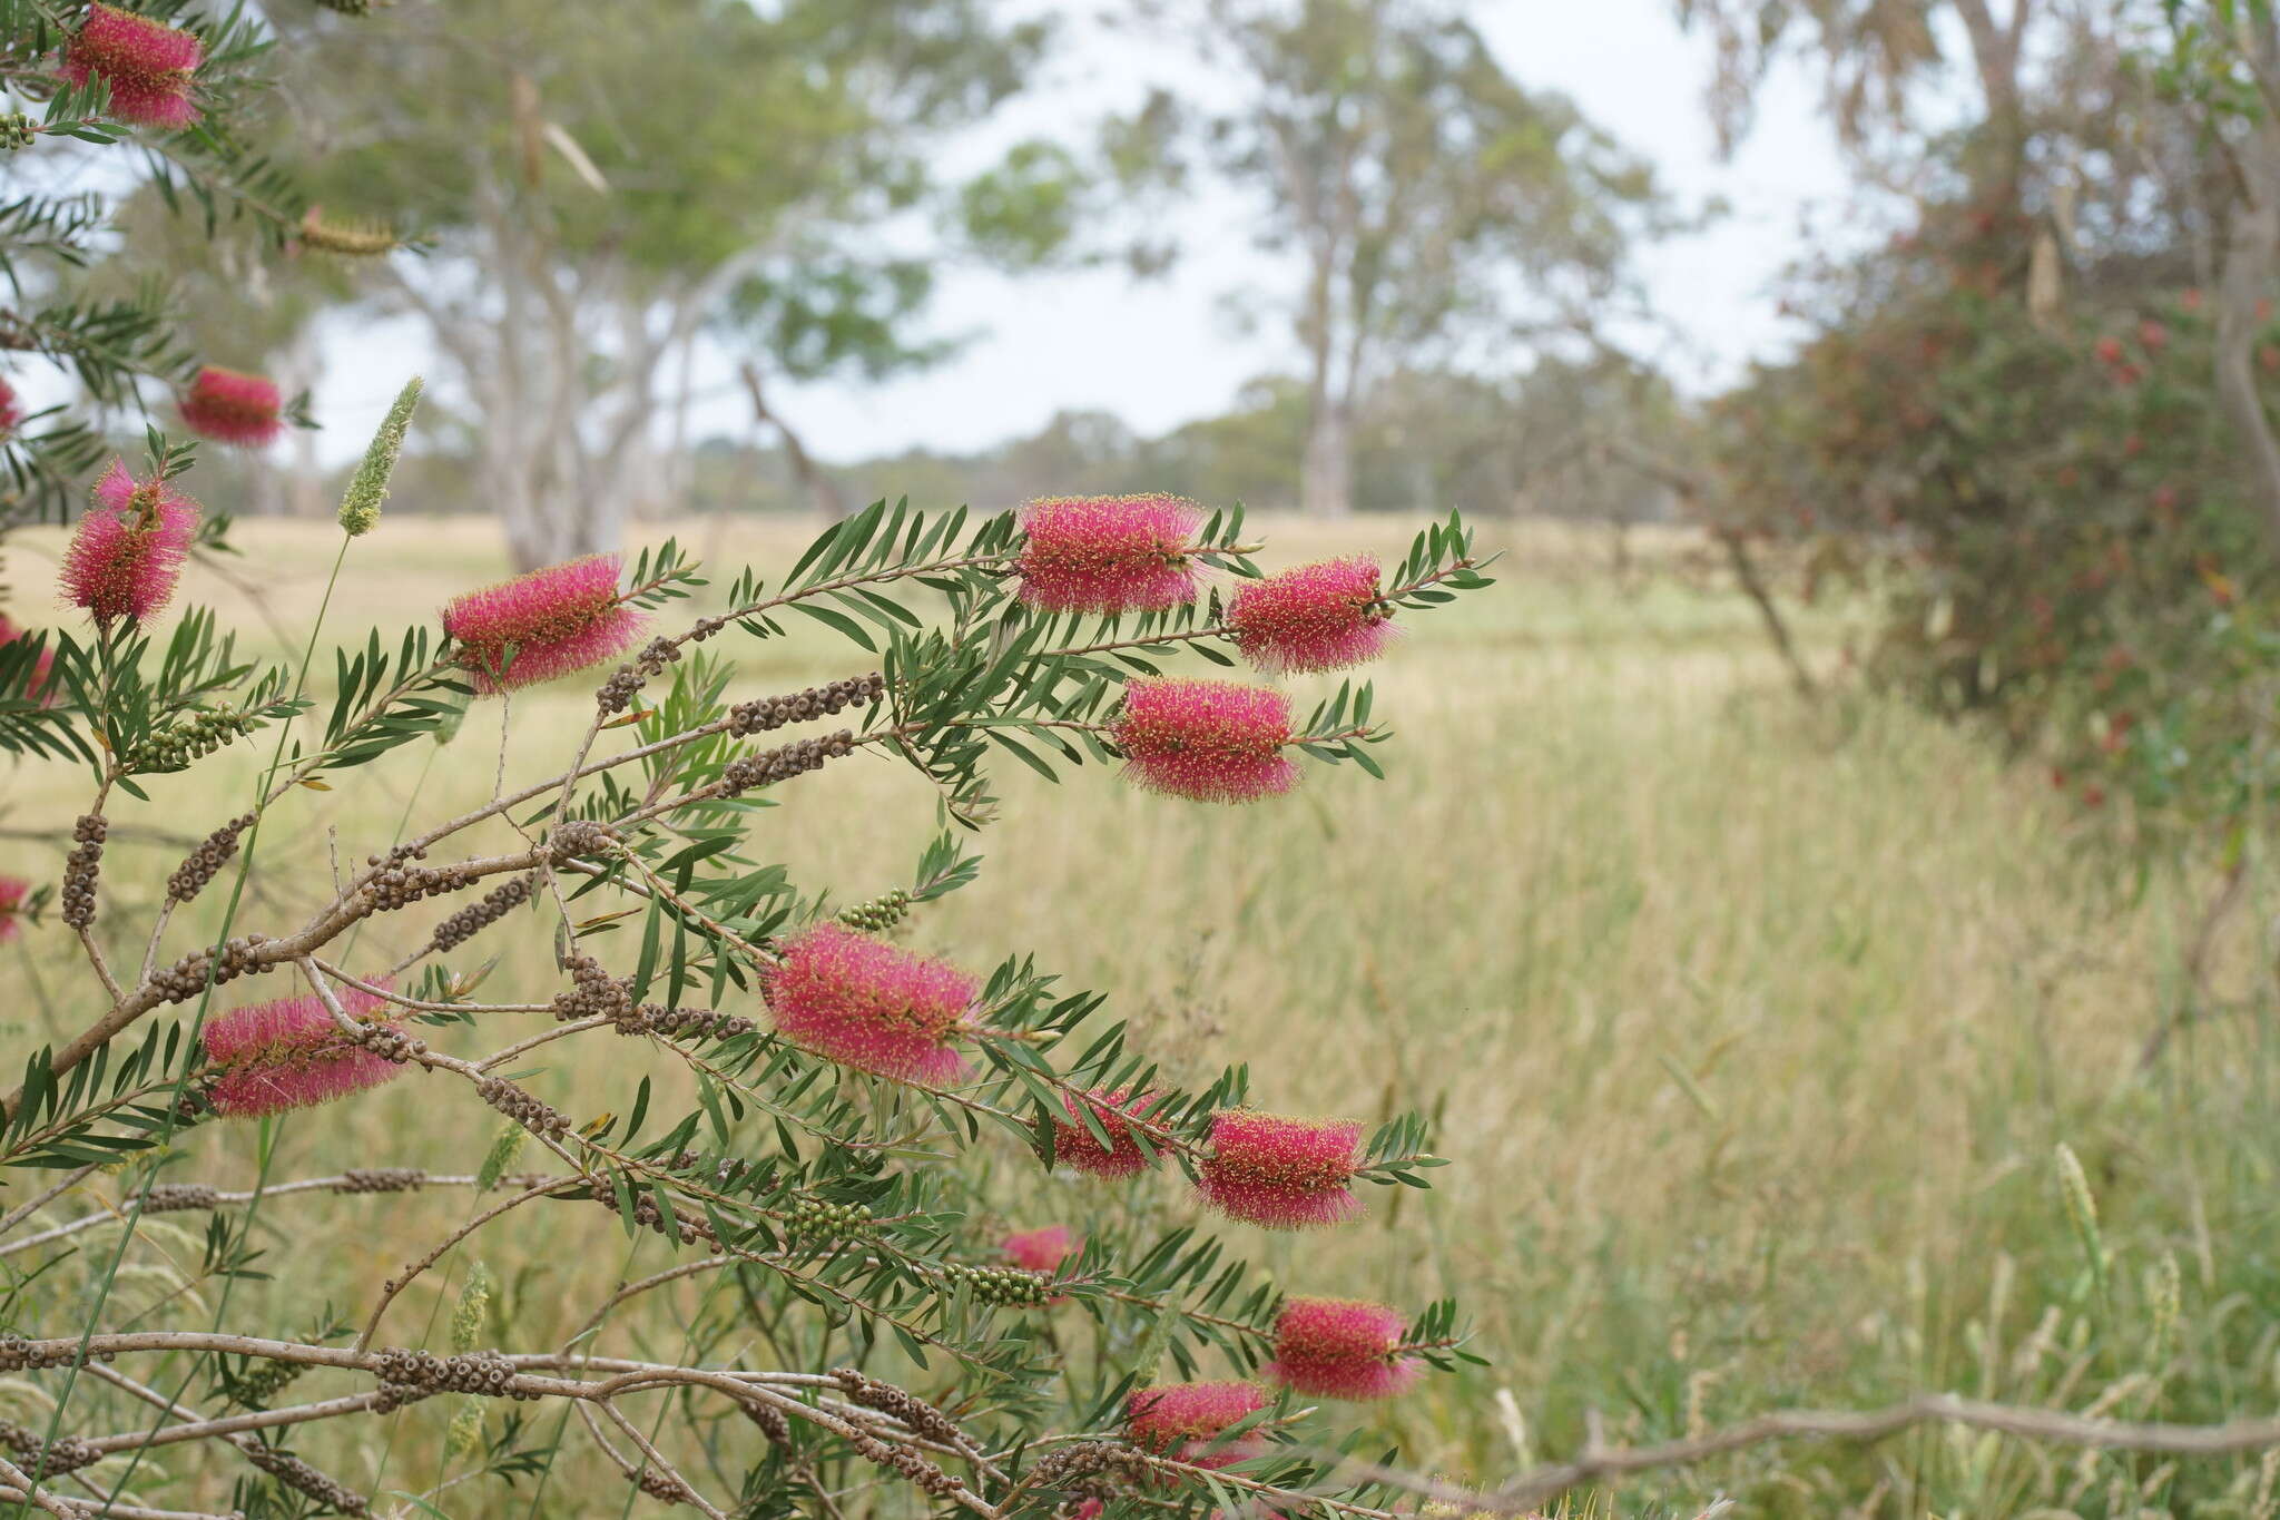
[[[381, 504], [413, 394], [351, 488], [344, 574], [401, 531]], [[146, 474], [178, 463], [160, 440]], [[1167, 517], [1131, 499], [1092, 501], [1085, 522], [1122, 542]], [[246, 1513], [353, 1511], [358, 1454], [420, 1431], [438, 1461], [472, 1463], [447, 1495], [461, 1513], [524, 1502], [481, 1499], [474, 1479], [554, 1463], [716, 1515], [814, 1513], [819, 1495], [846, 1513], [1005, 1520], [1124, 1499], [1366, 1518], [1407, 1502], [1343, 1468], [1318, 1399], [1455, 1367], [1457, 1308], [1404, 1324], [1322, 1297], [1343, 1283], [1306, 1256], [1284, 1285], [1245, 1253], [1268, 1240], [1259, 1226], [1329, 1228], [1361, 1194], [1423, 1187], [1439, 1164], [1425, 1121], [1263, 1112], [1268, 1096], [1309, 1101], [1295, 1071], [1183, 1085], [1106, 994], [987, 937], [942, 943], [928, 923], [948, 893], [987, 891], [964, 834], [999, 811], [1003, 759], [1176, 793], [1147, 802], [1165, 809], [1270, 804], [1270, 768], [1377, 770], [1368, 686], [1309, 709], [1172, 672], [1181, 656], [1233, 665], [1243, 640], [1218, 608], [1261, 583], [1240, 510], [1199, 510], [1179, 533], [1192, 581], [1145, 613], [1040, 606], [1017, 513], [876, 504], [768, 579], [707, 586], [666, 542], [440, 588], [410, 629], [283, 665], [239, 659], [207, 611], [162, 624], [100, 599], [0, 643], [0, 745], [87, 782], [50, 820], [59, 873], [30, 845], [0, 859], [0, 934], [57, 969], [43, 987], [71, 1030], [32, 1055], [0, 1126], [0, 1260], [16, 1269], [0, 1374], [52, 1401], [9, 1436], [16, 1458], [59, 1443], [73, 1461], [80, 1438], [148, 1429], [125, 1376], [192, 1411], [166, 1417], [194, 1427], [169, 1433], [169, 1474], [205, 1472], [185, 1449], [253, 1463]], [[1373, 570], [1361, 613], [1407, 618], [1487, 583], [1452, 517]], [[702, 608], [673, 611], [700, 593]], [[324, 643], [312, 629], [308, 647]], [[798, 649], [816, 679], [755, 684], [732, 663], [752, 643], [777, 665]], [[490, 777], [481, 729], [527, 713], [547, 677], [591, 693], [561, 752], [472, 811], [426, 809], [431, 745], [472, 745]], [[910, 877], [771, 864], [771, 809], [832, 807], [857, 759], [939, 800]], [[1174, 761], [1188, 770], [1163, 770]], [[353, 788], [381, 807], [312, 811]], [[230, 816], [185, 816], [198, 795], [233, 798]], [[349, 836], [381, 816], [404, 823]], [[150, 836], [185, 832], [196, 843], [166, 845], [166, 871], [135, 864]], [[527, 964], [495, 959], [506, 934], [552, 943], [554, 971], [506, 971]], [[611, 1060], [572, 1085], [568, 1041]], [[299, 1144], [278, 1155], [328, 1153], [356, 1105], [394, 1121], [360, 1135], [415, 1128], [456, 1142], [463, 1167], [429, 1176], [365, 1149], [349, 1171], [264, 1174], [251, 1194], [223, 1192], [219, 1171], [198, 1180], [233, 1135], [260, 1135], [262, 1155], [285, 1137]], [[80, 1187], [43, 1194], [57, 1171]], [[1035, 1180], [1024, 1208], [1049, 1192], [1053, 1215], [1010, 1208], [1010, 1176]], [[431, 1187], [479, 1199], [420, 1235], [392, 1196]], [[157, 1215], [210, 1210], [207, 1269], [249, 1272], [251, 1242], [290, 1237], [317, 1192], [369, 1210], [369, 1274], [326, 1281], [321, 1251], [292, 1258], [296, 1299], [331, 1304], [337, 1324], [242, 1319], [253, 1292], [128, 1313], [132, 1278], [100, 1267], [139, 1262]], [[616, 1231], [645, 1249], [616, 1294], [572, 1306], [593, 1333], [568, 1345], [529, 1326], [527, 1294], [490, 1288], [524, 1281], [518, 1226], [538, 1215], [575, 1251], [616, 1256]], [[435, 1315], [451, 1274], [483, 1297]], [[679, 1360], [611, 1329], [652, 1292], [714, 1306], [689, 1319]], [[214, 1304], [230, 1340], [212, 1340]], [[75, 1376], [82, 1345], [100, 1370]], [[451, 1395], [433, 1417], [410, 1411], [394, 1436], [369, 1424], [431, 1395]], [[536, 1420], [529, 1401], [586, 1417]], [[292, 1456], [210, 1422], [230, 1411], [269, 1411], [258, 1429], [290, 1433]]]

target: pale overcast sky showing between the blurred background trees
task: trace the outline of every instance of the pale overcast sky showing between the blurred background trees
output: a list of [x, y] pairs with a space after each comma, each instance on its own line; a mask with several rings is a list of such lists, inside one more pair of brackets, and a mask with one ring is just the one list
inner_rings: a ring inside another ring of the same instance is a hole
[[[1642, 258], [1651, 299], [1687, 342], [1685, 353], [1662, 358], [1683, 385], [1701, 387], [1790, 340], [1774, 310], [1774, 276], [1801, 251], [1801, 216], [1833, 205], [1845, 175], [1803, 73], [1772, 82], [1756, 132], [1721, 162], [1703, 109], [1708, 43], [1683, 34], [1671, 11], [1671, 0], [1480, 0], [1475, 23], [1523, 84], [1569, 93], [1648, 157], [1680, 201], [1724, 196], [1731, 205], [1712, 230]], [[1001, 132], [1044, 134], [1088, 119], [1104, 100], [1138, 98], [1145, 66], [1161, 62], [1135, 55], [1129, 39], [1083, 34]], [[1142, 433], [1224, 410], [1243, 381], [1295, 362], [1277, 321], [1243, 330], [1227, 301], [1275, 280], [1277, 269], [1249, 248], [1240, 201], [1202, 201], [1181, 221], [1188, 251], [1167, 278], [953, 271], [933, 321], [944, 333], [978, 333], [955, 360], [889, 385], [787, 385], [771, 401], [828, 460], [914, 444], [978, 449], [1031, 433], [1062, 408], [1108, 410]], [[333, 458], [363, 447], [401, 374], [426, 358], [408, 335], [365, 330], [353, 349], [358, 362], [331, 365], [333, 378], [317, 394]], [[698, 438], [752, 433], [725, 362], [702, 365], [700, 390]]]

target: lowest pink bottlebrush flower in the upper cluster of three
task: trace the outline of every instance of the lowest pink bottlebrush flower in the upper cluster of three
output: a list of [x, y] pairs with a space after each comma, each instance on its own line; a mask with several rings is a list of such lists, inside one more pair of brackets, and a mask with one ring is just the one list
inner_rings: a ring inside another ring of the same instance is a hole
[[1256, 802], [1297, 782], [1284, 754], [1290, 700], [1270, 686], [1131, 681], [1108, 732], [1124, 750], [1129, 779], [1190, 802]]

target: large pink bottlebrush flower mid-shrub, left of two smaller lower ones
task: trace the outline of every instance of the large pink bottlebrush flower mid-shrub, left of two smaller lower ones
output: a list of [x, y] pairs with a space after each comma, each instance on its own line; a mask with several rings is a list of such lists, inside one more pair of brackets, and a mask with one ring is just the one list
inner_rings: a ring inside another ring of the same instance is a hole
[[803, 930], [762, 978], [777, 1032], [844, 1067], [942, 1085], [964, 1071], [951, 1035], [974, 978], [832, 921]]

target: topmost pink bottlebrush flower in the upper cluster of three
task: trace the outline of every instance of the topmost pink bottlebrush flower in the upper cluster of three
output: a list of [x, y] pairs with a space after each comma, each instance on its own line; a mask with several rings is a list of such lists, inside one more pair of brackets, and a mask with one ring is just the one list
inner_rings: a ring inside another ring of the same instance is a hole
[[1161, 613], [1195, 602], [1195, 529], [1183, 497], [1051, 497], [1021, 513], [1015, 574], [1047, 613]]

